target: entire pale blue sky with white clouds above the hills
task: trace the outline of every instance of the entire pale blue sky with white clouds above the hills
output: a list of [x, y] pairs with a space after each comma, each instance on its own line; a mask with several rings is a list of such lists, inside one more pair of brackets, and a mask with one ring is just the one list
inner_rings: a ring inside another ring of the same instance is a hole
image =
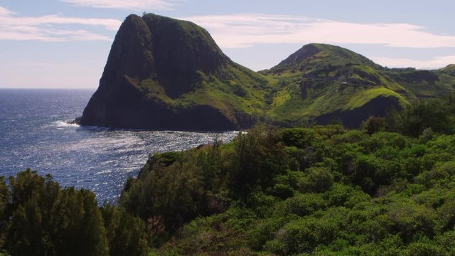
[[252, 70], [307, 43], [389, 68], [443, 68], [455, 63], [454, 10], [449, 0], [0, 0], [0, 87], [95, 90], [120, 24], [144, 12], [203, 26]]

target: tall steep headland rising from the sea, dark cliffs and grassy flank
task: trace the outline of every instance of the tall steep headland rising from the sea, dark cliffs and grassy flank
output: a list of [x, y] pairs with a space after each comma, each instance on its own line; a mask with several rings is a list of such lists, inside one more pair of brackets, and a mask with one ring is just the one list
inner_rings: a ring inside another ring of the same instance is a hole
[[267, 80], [230, 60], [205, 29], [128, 16], [79, 122], [147, 129], [241, 129], [265, 106]]

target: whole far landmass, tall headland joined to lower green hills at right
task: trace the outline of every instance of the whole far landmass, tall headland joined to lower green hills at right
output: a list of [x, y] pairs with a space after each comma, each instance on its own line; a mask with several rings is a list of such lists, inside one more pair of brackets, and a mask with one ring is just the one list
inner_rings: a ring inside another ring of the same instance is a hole
[[341, 121], [358, 127], [422, 97], [455, 90], [454, 66], [382, 68], [338, 46], [311, 43], [255, 73], [232, 62], [204, 28], [145, 14], [128, 16], [100, 87], [78, 122], [142, 129], [245, 129]]

